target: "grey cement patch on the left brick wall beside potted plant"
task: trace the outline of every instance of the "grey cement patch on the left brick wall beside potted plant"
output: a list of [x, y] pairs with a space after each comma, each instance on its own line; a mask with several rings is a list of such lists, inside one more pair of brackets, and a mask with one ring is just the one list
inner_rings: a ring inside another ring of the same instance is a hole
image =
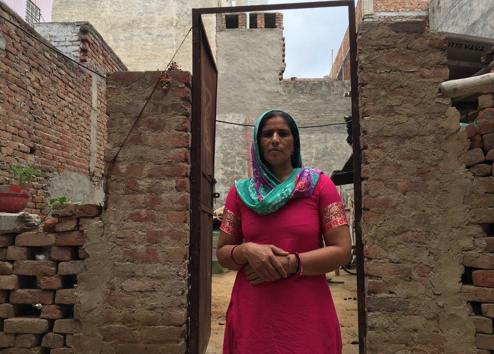
[[95, 185], [88, 175], [64, 170], [62, 174], [53, 173], [48, 181], [48, 191], [52, 198], [65, 196], [71, 202], [100, 204], [105, 193], [103, 185]]

